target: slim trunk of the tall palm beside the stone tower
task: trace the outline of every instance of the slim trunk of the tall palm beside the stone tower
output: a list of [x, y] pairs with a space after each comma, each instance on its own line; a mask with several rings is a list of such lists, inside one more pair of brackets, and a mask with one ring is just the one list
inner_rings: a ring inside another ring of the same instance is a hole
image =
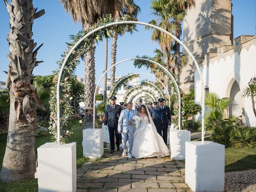
[[[180, 40], [181, 35], [181, 24], [180, 22], [175, 22], [175, 36]], [[180, 44], [175, 42], [174, 46], [174, 63], [175, 63], [175, 74], [177, 74], [177, 80], [180, 82]]]

